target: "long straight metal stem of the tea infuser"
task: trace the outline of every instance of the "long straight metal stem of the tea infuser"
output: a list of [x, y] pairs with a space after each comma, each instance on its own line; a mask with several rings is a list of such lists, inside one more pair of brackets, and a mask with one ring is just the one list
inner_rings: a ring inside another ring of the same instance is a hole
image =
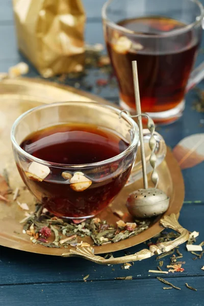
[[132, 61], [133, 66], [133, 80], [134, 80], [134, 90], [135, 90], [135, 104], [136, 104], [136, 113], [138, 116], [138, 125], [139, 125], [139, 136], [140, 136], [140, 150], [141, 150], [141, 159], [142, 159], [142, 171], [143, 171], [143, 183], [144, 188], [148, 188], [147, 183], [147, 174], [146, 174], [146, 161], [145, 161], [145, 152], [144, 152], [144, 140], [143, 140], [143, 126], [142, 126], [142, 116], [141, 116], [141, 105], [140, 105], [140, 90], [138, 82], [138, 72], [137, 72], [137, 61]]

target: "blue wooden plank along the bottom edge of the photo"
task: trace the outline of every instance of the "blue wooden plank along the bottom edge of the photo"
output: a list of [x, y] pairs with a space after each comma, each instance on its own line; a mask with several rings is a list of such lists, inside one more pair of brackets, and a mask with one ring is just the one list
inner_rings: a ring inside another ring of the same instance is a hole
[[[202, 306], [204, 298], [204, 277], [170, 278], [181, 290], [163, 290], [168, 287], [158, 279], [140, 279], [132, 281], [108, 281], [58, 284], [36, 284], [2, 286], [0, 288], [1, 304], [6, 306], [132, 306], [138, 304], [166, 306], [185, 305]], [[195, 287], [197, 291], [186, 288], [185, 283]]]

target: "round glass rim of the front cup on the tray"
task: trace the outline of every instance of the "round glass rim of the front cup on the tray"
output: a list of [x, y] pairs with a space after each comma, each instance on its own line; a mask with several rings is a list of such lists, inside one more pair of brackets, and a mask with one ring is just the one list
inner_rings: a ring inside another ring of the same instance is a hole
[[118, 116], [121, 112], [119, 109], [117, 109], [115, 107], [112, 107], [112, 106], [109, 106], [109, 105], [99, 104], [99, 103], [96, 103], [94, 101], [90, 101], [90, 102], [87, 102], [87, 101], [67, 101], [67, 102], [56, 102], [56, 103], [51, 103], [51, 104], [43, 104], [41, 106], [37, 106], [35, 108], [32, 108], [32, 109], [24, 112], [14, 121], [14, 123], [12, 125], [12, 128], [11, 128], [11, 133], [10, 133], [12, 145], [15, 147], [15, 149], [20, 154], [27, 157], [31, 161], [38, 162], [38, 163], [46, 165], [46, 166], [57, 167], [57, 168], [89, 168], [89, 167], [98, 167], [98, 166], [102, 166], [102, 165], [105, 165], [105, 164], [110, 164], [112, 162], [115, 162], [115, 161], [121, 159], [122, 157], [124, 157], [125, 155], [129, 154], [129, 152], [131, 152], [134, 149], [134, 147], [138, 144], [138, 142], [139, 142], [139, 127], [138, 127], [137, 123], [129, 115], [127, 115], [126, 113], [123, 112], [123, 113], [121, 113], [121, 118], [126, 119], [129, 123], [131, 123], [134, 126], [135, 135], [134, 135], [133, 141], [129, 145], [129, 147], [127, 147], [120, 154], [118, 154], [118, 155], [116, 155], [112, 158], [109, 158], [107, 160], [103, 160], [103, 161], [96, 162], [96, 163], [78, 164], [78, 165], [77, 164], [60, 164], [60, 163], [48, 162], [48, 161], [45, 161], [45, 160], [42, 160], [40, 158], [32, 156], [28, 152], [24, 151], [18, 145], [14, 135], [15, 135], [15, 131], [16, 131], [16, 128], [17, 128], [18, 124], [20, 123], [20, 121], [24, 117], [28, 116], [32, 112], [36, 112], [36, 111], [41, 110], [43, 108], [50, 108], [50, 107], [61, 106], [61, 105], [64, 106], [64, 105], [70, 105], [70, 104], [73, 104], [73, 103], [74, 104], [75, 103], [78, 103], [78, 104], [87, 104], [88, 103], [88, 104], [93, 104], [93, 105], [100, 106], [100, 107], [103, 107], [103, 108], [107, 108], [107, 109], [110, 109], [112, 111], [116, 111], [118, 113]]

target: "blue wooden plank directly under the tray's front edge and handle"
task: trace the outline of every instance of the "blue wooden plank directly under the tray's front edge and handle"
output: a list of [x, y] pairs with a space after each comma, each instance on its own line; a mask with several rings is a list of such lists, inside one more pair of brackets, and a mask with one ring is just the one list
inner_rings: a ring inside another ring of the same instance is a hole
[[[204, 215], [204, 203], [184, 205], [180, 223], [188, 228], [189, 231], [198, 231], [200, 233], [197, 242], [204, 240], [204, 228], [200, 216]], [[129, 249], [135, 253], [147, 245], [140, 244]], [[204, 276], [203, 259], [192, 260], [195, 256], [187, 252], [185, 244], [180, 247], [186, 264], [184, 272], [169, 273], [166, 277], [184, 277]], [[124, 251], [114, 253], [114, 257], [124, 256]], [[170, 262], [170, 256], [164, 259], [163, 270]], [[30, 284], [30, 283], [53, 283], [53, 282], [79, 282], [83, 277], [90, 274], [91, 279], [98, 281], [108, 279], [113, 280], [115, 277], [132, 275], [135, 279], [154, 278], [156, 274], [148, 273], [148, 270], [157, 270], [159, 262], [156, 257], [146, 259], [130, 267], [130, 270], [122, 270], [121, 265], [102, 266], [85, 261], [79, 258], [59, 258], [44, 256], [40, 254], [21, 252], [14, 249], [1, 247], [0, 250], [0, 285], [8, 284]], [[114, 270], [113, 270], [114, 269]], [[161, 276], [161, 275], [159, 275]]]

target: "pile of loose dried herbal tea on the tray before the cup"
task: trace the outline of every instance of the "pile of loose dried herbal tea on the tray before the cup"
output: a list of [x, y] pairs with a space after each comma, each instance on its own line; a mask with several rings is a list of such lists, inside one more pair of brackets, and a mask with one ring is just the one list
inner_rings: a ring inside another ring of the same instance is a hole
[[[22, 222], [25, 222], [23, 225], [23, 230], [25, 231], [29, 230], [29, 227], [33, 223], [35, 234], [39, 233], [41, 238], [48, 238], [47, 235], [45, 235], [46, 237], [42, 236], [43, 228], [51, 229], [55, 234], [55, 240], [53, 244], [49, 244], [49, 247], [52, 247], [52, 245], [58, 245], [59, 241], [62, 241], [60, 243], [62, 247], [67, 247], [66, 244], [71, 244], [71, 246], [80, 246], [81, 243], [78, 243], [77, 238], [75, 238], [76, 235], [78, 238], [84, 238], [87, 236], [91, 237], [94, 245], [114, 243], [138, 235], [146, 230], [150, 224], [149, 220], [137, 220], [137, 223], [127, 224], [127, 228], [130, 227], [130, 230], [127, 230], [126, 227], [124, 230], [124, 228], [108, 224], [106, 220], [100, 220], [97, 217], [82, 220], [80, 222], [72, 220], [67, 221], [50, 214], [39, 204], [36, 205], [35, 213], [28, 214], [20, 221], [20, 223]], [[130, 226], [131, 224], [134, 224], [134, 226]], [[66, 237], [71, 237], [71, 239], [66, 239]], [[45, 245], [45, 242], [40, 242]]]

